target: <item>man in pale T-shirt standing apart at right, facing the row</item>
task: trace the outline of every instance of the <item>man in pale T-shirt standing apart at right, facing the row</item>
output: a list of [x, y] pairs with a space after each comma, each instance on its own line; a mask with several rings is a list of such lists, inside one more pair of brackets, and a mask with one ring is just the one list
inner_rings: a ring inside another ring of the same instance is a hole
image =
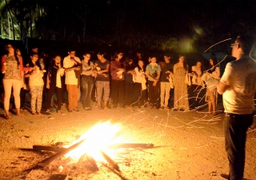
[[235, 61], [226, 69], [217, 89], [225, 108], [225, 147], [230, 162], [230, 180], [242, 180], [245, 166], [246, 131], [254, 121], [256, 62], [250, 58], [254, 39], [238, 36], [232, 47]]

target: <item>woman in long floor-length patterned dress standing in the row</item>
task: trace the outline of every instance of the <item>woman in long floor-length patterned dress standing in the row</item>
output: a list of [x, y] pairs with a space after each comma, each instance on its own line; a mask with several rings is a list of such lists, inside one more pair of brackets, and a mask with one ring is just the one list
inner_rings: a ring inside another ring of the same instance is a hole
[[189, 110], [187, 94], [186, 74], [189, 66], [184, 55], [180, 55], [178, 62], [174, 64], [174, 110]]

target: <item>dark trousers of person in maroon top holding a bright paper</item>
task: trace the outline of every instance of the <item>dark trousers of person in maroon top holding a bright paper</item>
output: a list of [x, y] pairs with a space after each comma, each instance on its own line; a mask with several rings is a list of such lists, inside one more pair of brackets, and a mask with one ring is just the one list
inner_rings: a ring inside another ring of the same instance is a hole
[[125, 81], [124, 80], [112, 80], [111, 81], [111, 97], [113, 100], [113, 106], [124, 105], [124, 93], [125, 93]]

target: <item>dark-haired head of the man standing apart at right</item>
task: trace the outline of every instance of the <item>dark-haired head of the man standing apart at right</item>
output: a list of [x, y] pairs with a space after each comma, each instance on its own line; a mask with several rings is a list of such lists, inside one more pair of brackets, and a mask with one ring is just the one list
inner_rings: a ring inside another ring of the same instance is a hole
[[234, 58], [240, 58], [242, 54], [249, 55], [252, 46], [254, 45], [255, 39], [250, 35], [241, 34], [234, 40], [234, 43], [231, 44], [232, 47], [232, 56]]

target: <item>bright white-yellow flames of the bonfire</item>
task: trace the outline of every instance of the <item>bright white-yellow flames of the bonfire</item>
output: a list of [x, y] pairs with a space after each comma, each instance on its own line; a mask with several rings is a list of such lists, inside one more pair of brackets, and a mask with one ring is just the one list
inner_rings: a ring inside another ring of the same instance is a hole
[[75, 144], [83, 139], [86, 139], [80, 146], [66, 154], [65, 157], [78, 160], [83, 154], [86, 153], [94, 158], [95, 161], [105, 161], [100, 153], [100, 150], [107, 152], [107, 146], [115, 138], [115, 135], [119, 130], [121, 130], [120, 124], [111, 125], [109, 121], [98, 123], [91, 127], [90, 130], [88, 130], [85, 134], [82, 134], [78, 140], [73, 142], [73, 144]]

